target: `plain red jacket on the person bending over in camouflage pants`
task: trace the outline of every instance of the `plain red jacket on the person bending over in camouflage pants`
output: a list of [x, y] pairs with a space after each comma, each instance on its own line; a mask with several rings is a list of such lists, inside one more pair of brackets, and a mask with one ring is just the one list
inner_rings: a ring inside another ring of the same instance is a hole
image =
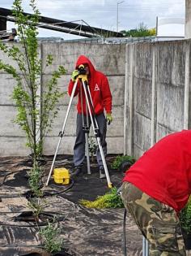
[[191, 130], [163, 137], [126, 171], [123, 181], [180, 211], [191, 193]]

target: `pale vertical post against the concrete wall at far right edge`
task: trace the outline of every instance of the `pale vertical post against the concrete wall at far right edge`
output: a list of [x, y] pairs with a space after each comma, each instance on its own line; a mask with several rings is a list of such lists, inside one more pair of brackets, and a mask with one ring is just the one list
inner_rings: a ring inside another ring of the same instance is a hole
[[184, 129], [189, 129], [189, 55], [190, 55], [189, 43], [185, 46], [185, 101], [184, 101]]

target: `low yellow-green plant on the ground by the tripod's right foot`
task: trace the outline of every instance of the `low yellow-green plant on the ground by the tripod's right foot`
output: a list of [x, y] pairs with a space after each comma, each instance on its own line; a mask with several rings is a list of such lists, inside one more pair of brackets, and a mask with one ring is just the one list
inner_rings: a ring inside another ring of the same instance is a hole
[[122, 208], [123, 202], [119, 194], [117, 194], [117, 188], [114, 187], [110, 192], [105, 193], [103, 196], [99, 196], [95, 201], [81, 199], [80, 203], [87, 208]]

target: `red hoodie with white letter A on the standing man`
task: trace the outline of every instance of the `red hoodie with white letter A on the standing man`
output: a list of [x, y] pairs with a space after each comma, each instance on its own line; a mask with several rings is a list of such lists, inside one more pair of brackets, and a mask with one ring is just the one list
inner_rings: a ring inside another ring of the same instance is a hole
[[[112, 94], [109, 89], [108, 79], [104, 76], [103, 73], [96, 71], [95, 67], [92, 65], [91, 61], [87, 59], [86, 56], [79, 56], [76, 67], [79, 67], [81, 64], [87, 64], [90, 69], [90, 76], [88, 77], [88, 85], [91, 92], [91, 98], [94, 106], [94, 111], [96, 114], [100, 114], [104, 112], [106, 113], [112, 112]], [[79, 82], [80, 83], [80, 82]], [[70, 80], [70, 84], [68, 86], [68, 93], [71, 95], [72, 89], [74, 87], [74, 82]], [[79, 85], [77, 85], [74, 96], [79, 93]], [[81, 108], [81, 99], [79, 95], [79, 102], [77, 105], [77, 110], [79, 113], [82, 113]], [[86, 99], [85, 93], [83, 92], [83, 113], [86, 114]]]

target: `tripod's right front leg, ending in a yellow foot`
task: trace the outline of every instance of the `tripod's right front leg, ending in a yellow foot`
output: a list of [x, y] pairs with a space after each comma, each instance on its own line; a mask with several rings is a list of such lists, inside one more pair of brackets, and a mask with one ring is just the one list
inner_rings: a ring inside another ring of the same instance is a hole
[[88, 107], [88, 111], [89, 111], [90, 118], [91, 118], [92, 128], [93, 128], [93, 131], [94, 131], [96, 139], [97, 139], [97, 143], [98, 143], [99, 150], [100, 150], [100, 155], [101, 155], [102, 162], [103, 162], [103, 165], [104, 165], [104, 172], [105, 172], [105, 175], [106, 175], [106, 178], [107, 178], [107, 181], [108, 181], [108, 188], [112, 188], [112, 183], [111, 183], [110, 177], [108, 175], [108, 167], [107, 167], [107, 164], [106, 164], [105, 158], [104, 158], [104, 151], [102, 149], [100, 137], [99, 137], [99, 134], [97, 132], [99, 130], [99, 128], [98, 128], [95, 116], [94, 116], [94, 119], [93, 119], [92, 114], [91, 114], [91, 109], [93, 109], [91, 93], [90, 93], [90, 90], [89, 90], [88, 86], [86, 88], [86, 85], [85, 85], [83, 80], [82, 80], [82, 82], [83, 82], [84, 93], [85, 93], [85, 96], [86, 96], [87, 107]]

